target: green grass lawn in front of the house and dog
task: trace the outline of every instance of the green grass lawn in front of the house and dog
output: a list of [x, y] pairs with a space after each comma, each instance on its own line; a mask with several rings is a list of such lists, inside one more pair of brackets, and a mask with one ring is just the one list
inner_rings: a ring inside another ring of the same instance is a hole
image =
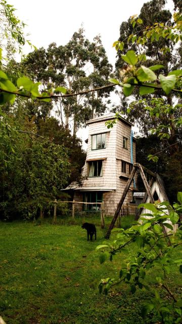
[[[123, 258], [119, 254], [100, 265], [95, 249], [106, 231], [100, 226], [93, 242], [87, 242], [80, 224], [0, 222], [0, 228], [0, 315], [7, 324], [157, 322], [141, 317], [142, 303], [150, 298], [147, 291], [132, 295], [122, 285], [108, 296], [99, 294], [100, 279], [117, 277]], [[170, 280], [172, 291], [180, 294], [178, 269]]]

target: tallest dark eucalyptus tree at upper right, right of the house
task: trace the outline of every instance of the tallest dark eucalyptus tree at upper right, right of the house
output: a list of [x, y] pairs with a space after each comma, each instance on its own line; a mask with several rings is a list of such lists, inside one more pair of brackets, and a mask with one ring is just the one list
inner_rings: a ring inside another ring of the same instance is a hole
[[[122, 71], [126, 69], [126, 62], [122, 60], [120, 54], [125, 54], [128, 50], [134, 50], [139, 55], [139, 64], [161, 65], [156, 70], [157, 75], [160, 73], [167, 75], [172, 70], [181, 68], [181, 38], [179, 34], [169, 37], [174, 20], [171, 12], [165, 9], [165, 3], [165, 0], [152, 0], [145, 3], [138, 17], [132, 16], [128, 21], [121, 23], [119, 36], [121, 46], [116, 62], [118, 76], [121, 76]], [[176, 7], [179, 3], [175, 1]], [[150, 29], [152, 25], [154, 28]], [[160, 29], [163, 30], [162, 36], [160, 36]], [[124, 113], [127, 112], [128, 119], [137, 123], [143, 134], [148, 135], [151, 129], [162, 125], [159, 133], [167, 133], [166, 130], [169, 130], [168, 135], [163, 139], [167, 145], [173, 145], [170, 153], [173, 154], [178, 150], [178, 145], [174, 143], [177, 142], [177, 134], [181, 134], [181, 130], [176, 129], [174, 119], [182, 112], [180, 96], [170, 92], [167, 97], [164, 97], [163, 93], [158, 91], [155, 94], [147, 93], [142, 97], [137, 91], [133, 91], [129, 99], [123, 92], [120, 93], [120, 98], [120, 109]]]

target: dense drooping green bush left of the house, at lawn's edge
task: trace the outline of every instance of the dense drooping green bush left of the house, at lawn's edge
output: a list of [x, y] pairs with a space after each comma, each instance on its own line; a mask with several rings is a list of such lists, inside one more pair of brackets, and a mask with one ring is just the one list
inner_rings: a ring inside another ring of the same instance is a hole
[[[69, 162], [63, 145], [36, 133], [21, 133], [14, 117], [1, 113], [1, 217], [35, 216], [68, 181]], [[24, 126], [25, 127], [25, 126]], [[29, 136], [30, 135], [30, 136]]]

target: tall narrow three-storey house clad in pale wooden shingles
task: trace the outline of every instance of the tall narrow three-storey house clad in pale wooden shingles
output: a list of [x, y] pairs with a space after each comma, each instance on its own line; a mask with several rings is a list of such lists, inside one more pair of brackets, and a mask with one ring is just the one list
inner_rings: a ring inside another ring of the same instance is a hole
[[[131, 126], [120, 117], [113, 128], [105, 125], [115, 114], [107, 114], [87, 121], [89, 127], [87, 154], [82, 176], [82, 186], [68, 186], [74, 190], [75, 209], [97, 212], [103, 202], [104, 214], [112, 216], [122, 195], [127, 179], [135, 163], [135, 139]], [[131, 186], [125, 204], [132, 200]], [[87, 204], [81, 206], [76, 201]]]

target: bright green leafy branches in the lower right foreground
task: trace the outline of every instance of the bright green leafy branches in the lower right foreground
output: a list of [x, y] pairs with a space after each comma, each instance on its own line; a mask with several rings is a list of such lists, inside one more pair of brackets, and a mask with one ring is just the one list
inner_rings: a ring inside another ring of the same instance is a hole
[[[113, 257], [120, 252], [128, 254], [128, 246], [133, 247], [131, 257], [126, 257], [124, 265], [120, 269], [119, 278], [102, 279], [99, 284], [100, 292], [108, 293], [109, 289], [121, 282], [128, 285], [132, 294], [137, 289], [151, 291], [153, 298], [150, 303], [146, 303], [142, 309], [142, 316], [148, 313], [157, 315], [161, 323], [179, 323], [182, 320], [182, 299], [169, 287], [169, 274], [172, 266], [179, 267], [182, 273], [182, 259], [176, 260], [173, 256], [173, 249], [181, 245], [182, 228], [176, 232], [173, 226], [178, 223], [179, 213], [182, 211], [182, 192], [178, 192], [178, 203], [173, 207], [167, 202], [153, 204], [141, 204], [151, 214], [143, 214], [137, 225], [129, 229], [113, 229], [117, 233], [113, 242], [104, 242], [96, 249], [102, 251], [100, 263], [106, 260], [113, 260]], [[146, 218], [147, 216], [147, 218]], [[163, 228], [167, 229], [167, 233]], [[169, 245], [170, 240], [170, 245]], [[160, 272], [155, 277], [156, 288], [152, 287], [148, 270], [160, 268]], [[157, 287], [168, 295], [167, 299], [162, 298], [163, 294], [158, 293]]]

